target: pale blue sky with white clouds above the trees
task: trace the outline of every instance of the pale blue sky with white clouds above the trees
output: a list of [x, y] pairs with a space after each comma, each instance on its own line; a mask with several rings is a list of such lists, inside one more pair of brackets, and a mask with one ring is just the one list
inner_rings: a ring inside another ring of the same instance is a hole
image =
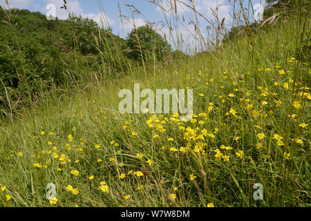
[[[53, 4], [55, 6], [55, 15], [59, 19], [67, 19], [68, 11], [61, 9], [63, 6], [63, 0], [8, 0], [11, 8], [20, 8], [20, 9], [28, 9], [32, 12], [41, 12], [46, 15], [52, 8], [47, 8], [49, 4]], [[167, 6], [167, 1], [172, 0], [156, 0], [162, 4], [162, 7], [166, 10], [170, 10], [171, 7]], [[185, 2], [191, 5], [190, 0], [177, 0], [177, 14], [180, 18], [180, 22], [178, 24], [178, 28], [174, 33], [176, 35], [182, 34], [182, 39], [184, 39], [185, 44], [194, 44], [196, 40], [196, 36], [194, 35], [194, 25], [191, 23], [196, 20], [196, 17], [191, 12], [191, 10], [185, 7], [181, 2]], [[243, 1], [243, 0], [238, 0]], [[238, 2], [236, 1], [236, 2]], [[244, 0], [244, 7], [249, 8], [249, 1], [252, 2], [253, 10], [249, 10], [249, 12], [258, 11], [259, 6], [258, 3], [265, 4], [264, 0]], [[99, 2], [101, 2], [102, 7]], [[196, 4], [196, 10], [204, 15], [209, 21], [214, 21], [214, 16], [212, 10], [218, 8], [217, 13], [220, 21], [225, 18], [225, 26], [232, 26], [232, 12], [233, 12], [233, 2], [234, 0], [194, 0]], [[151, 23], [156, 22], [154, 27], [160, 34], [169, 36], [170, 32], [167, 26], [163, 24], [166, 23], [165, 18], [160, 10], [160, 7], [150, 3], [148, 0], [67, 0], [68, 10], [73, 12], [75, 15], [81, 15], [82, 17], [88, 17], [89, 19], [93, 19], [100, 26], [102, 26], [101, 18], [104, 19], [101, 8], [104, 8], [104, 12], [106, 14], [106, 19], [104, 21], [108, 21], [109, 26], [113, 29], [113, 33], [115, 35], [120, 35], [120, 37], [126, 38], [127, 34], [131, 32], [133, 29], [133, 23], [137, 27], [144, 26], [146, 21]], [[256, 6], [257, 4], [257, 6]], [[120, 10], [122, 18], [120, 17]], [[140, 14], [134, 12], [134, 17], [132, 17], [132, 12], [135, 10], [126, 5], [133, 5], [140, 11]], [[0, 6], [6, 6], [6, 0], [0, 0]], [[217, 7], [218, 6], [218, 7]], [[251, 12], [251, 15], [253, 13]], [[129, 19], [124, 19], [128, 17]], [[185, 22], [183, 22], [182, 17], [185, 18]], [[252, 16], [251, 16], [252, 17]], [[133, 20], [134, 19], [134, 20]], [[170, 20], [171, 21], [171, 20]], [[207, 26], [210, 24], [202, 17], [198, 16], [198, 21], [200, 22], [200, 30], [203, 35], [207, 35]], [[106, 22], [104, 22], [104, 26], [106, 27]], [[169, 37], [168, 37], [169, 38]], [[175, 37], [174, 37], [175, 38]], [[171, 43], [171, 42], [170, 42]]]

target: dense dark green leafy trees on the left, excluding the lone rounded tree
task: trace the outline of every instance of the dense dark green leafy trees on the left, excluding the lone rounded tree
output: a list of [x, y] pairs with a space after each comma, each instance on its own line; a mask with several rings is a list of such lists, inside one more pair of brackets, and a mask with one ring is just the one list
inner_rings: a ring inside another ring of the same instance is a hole
[[[0, 113], [8, 108], [7, 95], [11, 103], [24, 104], [29, 93], [75, 84], [66, 77], [66, 70], [79, 80], [83, 76], [74, 71], [77, 64], [98, 67], [102, 61], [96, 57], [100, 48], [94, 36], [99, 31], [102, 36], [104, 32], [113, 36], [111, 29], [99, 28], [90, 19], [72, 16], [66, 21], [48, 21], [40, 12], [1, 7], [0, 29]], [[95, 58], [82, 56], [88, 54]]]

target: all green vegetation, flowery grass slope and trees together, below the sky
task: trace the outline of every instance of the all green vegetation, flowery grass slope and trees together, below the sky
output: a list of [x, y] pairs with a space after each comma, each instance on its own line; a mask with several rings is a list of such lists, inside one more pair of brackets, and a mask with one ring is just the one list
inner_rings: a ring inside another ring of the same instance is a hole
[[[310, 206], [310, 10], [295, 2], [192, 56], [148, 28], [122, 40], [72, 17], [21, 30], [28, 12], [4, 12], [0, 205]], [[120, 114], [119, 91], [138, 83], [193, 88], [191, 121]]]

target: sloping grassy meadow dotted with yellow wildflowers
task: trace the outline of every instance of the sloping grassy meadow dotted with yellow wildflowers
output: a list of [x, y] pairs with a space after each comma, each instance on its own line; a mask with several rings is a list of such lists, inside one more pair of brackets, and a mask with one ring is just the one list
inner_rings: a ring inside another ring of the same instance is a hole
[[[111, 81], [94, 73], [62, 97], [52, 91], [1, 122], [0, 205], [310, 206], [311, 70], [296, 54], [301, 33], [303, 22], [285, 17], [218, 50]], [[138, 83], [193, 88], [193, 120], [121, 115], [119, 91]], [[49, 183], [57, 202], [46, 199]], [[254, 200], [256, 183], [263, 200]]]

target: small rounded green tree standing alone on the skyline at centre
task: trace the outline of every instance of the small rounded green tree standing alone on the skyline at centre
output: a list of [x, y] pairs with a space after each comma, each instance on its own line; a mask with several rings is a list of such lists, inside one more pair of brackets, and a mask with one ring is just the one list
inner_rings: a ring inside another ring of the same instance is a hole
[[157, 59], [162, 59], [171, 46], [160, 34], [150, 27], [142, 26], [133, 29], [127, 37], [128, 56], [136, 61], [151, 57], [153, 53]]

